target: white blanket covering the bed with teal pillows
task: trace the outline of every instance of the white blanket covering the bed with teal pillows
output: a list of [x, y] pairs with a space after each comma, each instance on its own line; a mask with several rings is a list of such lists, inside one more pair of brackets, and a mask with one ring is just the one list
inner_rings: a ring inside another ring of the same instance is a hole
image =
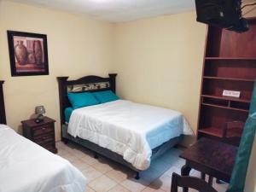
[[125, 100], [74, 110], [67, 131], [122, 155], [138, 170], [150, 165], [152, 148], [193, 134], [181, 113]]

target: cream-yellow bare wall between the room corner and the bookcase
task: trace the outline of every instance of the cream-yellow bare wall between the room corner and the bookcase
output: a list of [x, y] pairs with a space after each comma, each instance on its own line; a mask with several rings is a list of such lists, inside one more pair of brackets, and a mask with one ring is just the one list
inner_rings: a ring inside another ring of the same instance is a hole
[[[119, 96], [179, 110], [196, 131], [207, 28], [195, 21], [195, 12], [114, 27]], [[255, 190], [255, 153], [254, 143], [245, 192]]]

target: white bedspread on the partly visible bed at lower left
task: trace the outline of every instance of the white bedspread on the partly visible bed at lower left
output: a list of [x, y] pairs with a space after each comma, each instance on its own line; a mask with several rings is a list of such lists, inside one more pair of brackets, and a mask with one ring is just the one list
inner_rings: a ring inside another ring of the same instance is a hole
[[85, 183], [67, 160], [0, 125], [0, 192], [84, 192]]

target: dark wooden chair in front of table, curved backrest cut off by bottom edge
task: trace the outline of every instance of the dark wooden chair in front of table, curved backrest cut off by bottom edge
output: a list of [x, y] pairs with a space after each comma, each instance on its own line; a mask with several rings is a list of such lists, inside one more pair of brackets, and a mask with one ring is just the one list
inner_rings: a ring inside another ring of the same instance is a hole
[[177, 173], [172, 173], [172, 188], [171, 192], [177, 192], [177, 187], [190, 188], [199, 192], [218, 192], [212, 186], [198, 177], [179, 176]]

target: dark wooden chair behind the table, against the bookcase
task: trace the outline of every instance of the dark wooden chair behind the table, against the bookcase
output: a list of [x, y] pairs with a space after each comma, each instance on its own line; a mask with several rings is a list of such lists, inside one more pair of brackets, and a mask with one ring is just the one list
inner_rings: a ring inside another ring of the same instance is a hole
[[244, 124], [245, 123], [241, 121], [230, 121], [225, 123], [222, 141], [224, 143], [230, 143], [232, 145], [239, 146]]

